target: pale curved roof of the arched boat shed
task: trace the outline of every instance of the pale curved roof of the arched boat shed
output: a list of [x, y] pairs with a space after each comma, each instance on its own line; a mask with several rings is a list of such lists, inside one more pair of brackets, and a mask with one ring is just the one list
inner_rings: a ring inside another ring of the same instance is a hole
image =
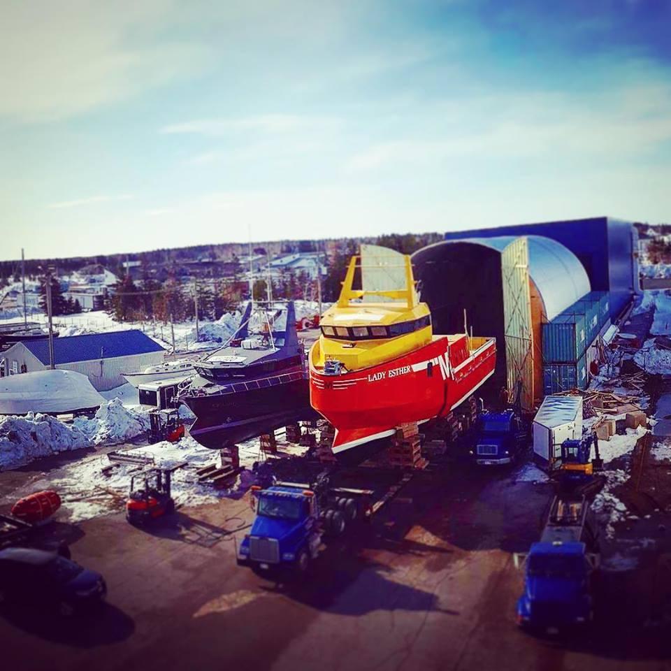
[[[514, 236], [463, 238], [446, 243], [473, 243], [503, 252]], [[529, 275], [540, 291], [548, 320], [554, 319], [591, 287], [589, 277], [578, 258], [564, 245], [544, 236], [526, 236], [529, 248]]]

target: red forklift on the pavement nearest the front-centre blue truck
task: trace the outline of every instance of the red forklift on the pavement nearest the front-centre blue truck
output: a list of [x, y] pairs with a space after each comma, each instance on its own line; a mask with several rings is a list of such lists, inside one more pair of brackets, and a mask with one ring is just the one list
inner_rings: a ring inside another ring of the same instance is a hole
[[150, 468], [131, 477], [126, 502], [126, 519], [131, 524], [143, 526], [152, 519], [175, 512], [175, 500], [171, 496], [171, 477], [185, 463], [183, 461], [170, 468]]

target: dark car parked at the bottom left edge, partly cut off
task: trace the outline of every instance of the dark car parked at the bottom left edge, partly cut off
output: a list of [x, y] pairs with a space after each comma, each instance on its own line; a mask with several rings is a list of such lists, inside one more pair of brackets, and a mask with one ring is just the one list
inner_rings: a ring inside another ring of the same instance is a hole
[[71, 615], [99, 603], [106, 593], [99, 573], [56, 552], [24, 547], [0, 550], [0, 603], [44, 605]]

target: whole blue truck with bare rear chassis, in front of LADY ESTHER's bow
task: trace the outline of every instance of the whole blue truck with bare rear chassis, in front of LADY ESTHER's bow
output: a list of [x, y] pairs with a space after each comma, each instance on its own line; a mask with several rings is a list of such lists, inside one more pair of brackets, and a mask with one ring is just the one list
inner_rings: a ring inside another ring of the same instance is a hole
[[261, 574], [302, 574], [322, 549], [322, 540], [346, 533], [393, 498], [412, 475], [405, 473], [384, 491], [332, 486], [318, 477], [310, 486], [277, 482], [252, 487], [256, 512], [250, 533], [238, 546], [238, 565]]

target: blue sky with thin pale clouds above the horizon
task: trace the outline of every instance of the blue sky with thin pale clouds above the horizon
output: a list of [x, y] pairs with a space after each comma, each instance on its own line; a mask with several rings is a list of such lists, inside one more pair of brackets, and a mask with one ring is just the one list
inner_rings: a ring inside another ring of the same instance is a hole
[[671, 221], [671, 0], [4, 0], [0, 259]]

